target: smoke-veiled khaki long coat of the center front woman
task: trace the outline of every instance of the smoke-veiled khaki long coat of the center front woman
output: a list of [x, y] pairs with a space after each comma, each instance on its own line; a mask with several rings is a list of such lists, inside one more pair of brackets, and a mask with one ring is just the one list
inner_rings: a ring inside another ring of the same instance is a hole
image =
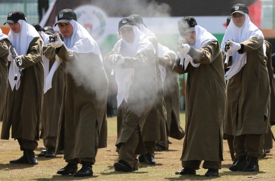
[[[113, 52], [109, 52], [104, 57], [104, 62], [108, 67], [113, 66], [111, 62], [113, 54]], [[120, 148], [121, 143], [125, 143], [129, 139], [137, 126], [139, 126], [142, 133], [145, 119], [154, 104], [157, 95], [154, 56], [153, 50], [145, 50], [137, 53], [135, 57], [124, 57], [125, 63], [121, 64], [123, 69], [134, 68], [135, 70], [133, 81], [129, 88], [127, 105], [122, 108], [123, 110], [118, 111], [118, 139], [116, 142], [118, 148]], [[120, 115], [120, 112], [125, 114]], [[144, 153], [146, 153], [146, 147], [143, 135], [140, 135], [139, 145], [135, 150], [135, 154]]]

